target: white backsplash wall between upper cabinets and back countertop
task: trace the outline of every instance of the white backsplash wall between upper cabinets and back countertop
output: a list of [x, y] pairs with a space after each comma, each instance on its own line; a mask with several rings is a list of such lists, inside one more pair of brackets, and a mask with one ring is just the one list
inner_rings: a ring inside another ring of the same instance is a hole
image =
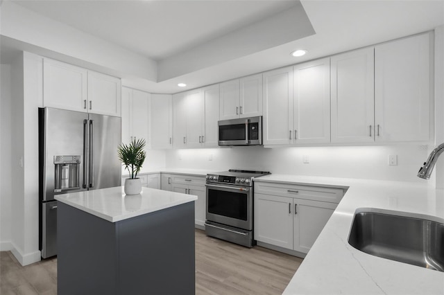
[[[388, 166], [388, 155], [398, 155], [398, 166]], [[307, 155], [309, 163], [302, 163]], [[428, 152], [419, 145], [355, 147], [231, 147], [170, 150], [169, 168], [266, 170], [273, 174], [423, 181], [416, 177]], [[210, 161], [210, 156], [212, 161]]]

